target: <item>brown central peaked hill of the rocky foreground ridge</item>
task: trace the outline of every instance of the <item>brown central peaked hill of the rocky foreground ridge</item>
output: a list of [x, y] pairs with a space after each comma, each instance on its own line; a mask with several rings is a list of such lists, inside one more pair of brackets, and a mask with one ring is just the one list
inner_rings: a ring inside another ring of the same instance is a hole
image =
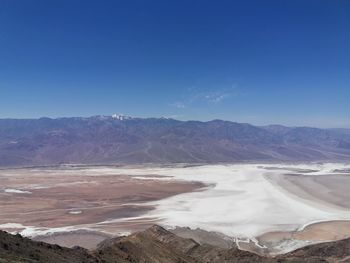
[[111, 239], [98, 248], [107, 262], [123, 251], [125, 262], [152, 263], [198, 263], [198, 262], [276, 262], [237, 248], [220, 249], [210, 245], [200, 245], [192, 239], [178, 237], [159, 226], [127, 238]]

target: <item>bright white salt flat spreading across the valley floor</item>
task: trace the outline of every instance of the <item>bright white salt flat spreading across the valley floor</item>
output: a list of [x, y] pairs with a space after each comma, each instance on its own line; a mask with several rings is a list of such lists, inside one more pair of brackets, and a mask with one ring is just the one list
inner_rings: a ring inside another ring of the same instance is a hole
[[[265, 166], [276, 169], [267, 170]], [[293, 231], [310, 222], [350, 219], [349, 210], [306, 202], [265, 177], [280, 176], [290, 170], [330, 173], [342, 167], [342, 164], [236, 164], [163, 169], [161, 174], [174, 179], [191, 178], [212, 187], [157, 201], [156, 210], [150, 215], [163, 218], [165, 226], [189, 226], [251, 239], [271, 231]], [[150, 168], [147, 172], [156, 170]], [[129, 172], [138, 173], [133, 169]]]

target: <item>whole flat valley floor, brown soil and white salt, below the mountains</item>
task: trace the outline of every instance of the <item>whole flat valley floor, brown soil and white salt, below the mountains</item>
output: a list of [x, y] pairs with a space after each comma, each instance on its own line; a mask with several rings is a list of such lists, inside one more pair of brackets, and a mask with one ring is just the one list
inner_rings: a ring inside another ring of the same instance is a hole
[[94, 248], [153, 224], [269, 254], [350, 237], [350, 164], [0, 170], [2, 230]]

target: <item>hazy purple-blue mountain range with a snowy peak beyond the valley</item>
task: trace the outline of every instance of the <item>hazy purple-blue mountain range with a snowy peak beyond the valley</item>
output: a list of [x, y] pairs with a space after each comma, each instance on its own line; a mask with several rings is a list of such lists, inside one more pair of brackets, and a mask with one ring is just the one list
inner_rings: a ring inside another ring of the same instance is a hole
[[349, 160], [348, 129], [119, 115], [0, 119], [0, 166]]

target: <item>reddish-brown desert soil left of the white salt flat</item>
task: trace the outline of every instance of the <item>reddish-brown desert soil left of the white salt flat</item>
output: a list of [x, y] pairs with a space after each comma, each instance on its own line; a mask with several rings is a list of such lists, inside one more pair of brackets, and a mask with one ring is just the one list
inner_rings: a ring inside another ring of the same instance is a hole
[[[125, 231], [135, 232], [157, 223], [157, 218], [138, 218], [154, 209], [149, 202], [205, 186], [199, 182], [175, 181], [167, 177], [162, 180], [152, 180], [153, 175], [142, 177], [150, 179], [100, 173], [86, 175], [80, 170], [1, 170], [0, 224], [93, 228], [91, 233], [73, 231], [39, 238], [64, 246], [79, 244], [91, 248], [105, 238], [105, 233], [111, 236]], [[11, 193], [6, 189], [30, 193]], [[118, 219], [121, 222], [109, 222]], [[2, 229], [21, 230], [13, 227]], [[91, 242], [85, 242], [87, 238]]]

